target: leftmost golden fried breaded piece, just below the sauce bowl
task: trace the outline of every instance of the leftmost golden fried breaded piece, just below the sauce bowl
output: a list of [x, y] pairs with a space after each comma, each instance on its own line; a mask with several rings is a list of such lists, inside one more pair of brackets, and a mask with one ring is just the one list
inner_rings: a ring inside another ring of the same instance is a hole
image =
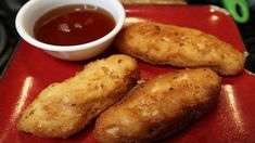
[[92, 62], [61, 83], [52, 83], [22, 113], [17, 129], [42, 138], [67, 138], [91, 122], [135, 86], [136, 60], [112, 55]]

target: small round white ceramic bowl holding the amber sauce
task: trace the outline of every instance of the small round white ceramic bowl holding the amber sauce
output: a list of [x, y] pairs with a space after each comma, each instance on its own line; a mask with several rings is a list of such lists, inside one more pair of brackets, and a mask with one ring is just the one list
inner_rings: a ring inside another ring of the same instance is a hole
[[[91, 4], [110, 12], [115, 20], [115, 27], [104, 37], [92, 42], [77, 46], [53, 46], [35, 39], [34, 25], [46, 12], [66, 4]], [[62, 60], [80, 61], [102, 53], [112, 43], [125, 21], [125, 10], [118, 0], [30, 0], [18, 11], [15, 26], [21, 37], [36, 48]]]

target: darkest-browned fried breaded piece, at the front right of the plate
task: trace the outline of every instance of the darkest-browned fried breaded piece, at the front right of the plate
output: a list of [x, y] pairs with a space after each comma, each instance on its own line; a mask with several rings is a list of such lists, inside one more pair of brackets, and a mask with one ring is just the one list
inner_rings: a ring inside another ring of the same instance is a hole
[[133, 88], [97, 119], [101, 143], [152, 142], [184, 128], [216, 105], [220, 77], [209, 68], [160, 75]]

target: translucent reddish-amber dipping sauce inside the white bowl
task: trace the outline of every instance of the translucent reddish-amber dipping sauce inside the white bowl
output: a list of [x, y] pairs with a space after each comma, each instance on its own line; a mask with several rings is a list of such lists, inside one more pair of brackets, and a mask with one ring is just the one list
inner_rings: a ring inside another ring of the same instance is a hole
[[35, 38], [54, 46], [75, 46], [91, 42], [115, 27], [113, 16], [105, 10], [84, 4], [53, 9], [35, 24]]

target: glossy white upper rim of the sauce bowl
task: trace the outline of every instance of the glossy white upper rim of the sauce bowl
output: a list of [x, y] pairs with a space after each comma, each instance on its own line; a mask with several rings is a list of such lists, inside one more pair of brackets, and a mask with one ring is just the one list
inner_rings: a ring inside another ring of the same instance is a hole
[[31, 6], [37, 1], [40, 1], [40, 0], [30, 0], [21, 8], [21, 10], [18, 11], [16, 18], [15, 18], [15, 26], [16, 26], [17, 32], [21, 35], [21, 37], [25, 41], [27, 41], [28, 43], [33, 44], [36, 48], [47, 50], [47, 51], [72, 52], [72, 51], [92, 49], [92, 48], [110, 40], [115, 35], [117, 35], [117, 32], [122, 29], [124, 22], [125, 22], [125, 18], [126, 18], [126, 13], [125, 13], [125, 9], [124, 9], [123, 4], [118, 0], [111, 0], [111, 1], [115, 2], [114, 4], [116, 4], [116, 8], [119, 9], [119, 15], [122, 15], [122, 16], [119, 16], [119, 21], [116, 22], [115, 27], [107, 35], [105, 35], [94, 41], [87, 42], [87, 43], [75, 44], [75, 46], [53, 46], [53, 44], [49, 44], [49, 43], [43, 43], [43, 42], [33, 38], [24, 30], [24, 28], [22, 28], [22, 26], [20, 24], [20, 22], [22, 21], [21, 20], [22, 16], [25, 14], [24, 10]]

